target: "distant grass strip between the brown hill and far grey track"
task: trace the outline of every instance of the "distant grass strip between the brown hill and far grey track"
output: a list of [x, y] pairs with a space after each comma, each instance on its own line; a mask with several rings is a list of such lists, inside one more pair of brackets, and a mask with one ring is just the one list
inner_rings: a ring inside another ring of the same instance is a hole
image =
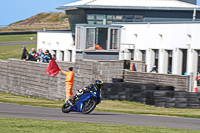
[[[33, 37], [33, 40], [30, 38]], [[37, 34], [23, 34], [23, 35], [0, 35], [1, 42], [21, 42], [21, 41], [36, 41]]]

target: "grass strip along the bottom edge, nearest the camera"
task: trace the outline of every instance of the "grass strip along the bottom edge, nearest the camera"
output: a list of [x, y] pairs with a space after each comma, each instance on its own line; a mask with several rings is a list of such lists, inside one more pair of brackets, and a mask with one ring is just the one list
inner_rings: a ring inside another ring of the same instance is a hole
[[50, 121], [0, 117], [1, 133], [200, 133], [197, 130], [165, 127], [97, 124], [86, 122]]

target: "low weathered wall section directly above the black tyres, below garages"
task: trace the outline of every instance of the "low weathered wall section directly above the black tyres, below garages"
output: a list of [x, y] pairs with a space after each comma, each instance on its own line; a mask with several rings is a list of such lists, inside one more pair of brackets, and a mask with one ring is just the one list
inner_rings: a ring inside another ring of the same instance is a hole
[[124, 77], [126, 82], [173, 86], [175, 91], [189, 91], [190, 76], [126, 71]]

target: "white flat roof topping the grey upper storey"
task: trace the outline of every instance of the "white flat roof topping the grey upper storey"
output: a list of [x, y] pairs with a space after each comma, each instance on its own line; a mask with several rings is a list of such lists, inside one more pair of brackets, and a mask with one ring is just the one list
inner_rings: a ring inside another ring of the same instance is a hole
[[148, 9], [148, 10], [200, 10], [200, 6], [178, 0], [80, 0], [59, 10], [93, 9]]

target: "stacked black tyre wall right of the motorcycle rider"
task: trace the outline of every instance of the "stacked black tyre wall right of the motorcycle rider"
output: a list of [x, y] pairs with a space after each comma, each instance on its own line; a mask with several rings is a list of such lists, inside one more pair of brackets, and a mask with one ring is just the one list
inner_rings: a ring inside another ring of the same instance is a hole
[[136, 101], [157, 107], [200, 108], [200, 93], [174, 91], [172, 86], [134, 84], [128, 82], [106, 83], [102, 99]]

